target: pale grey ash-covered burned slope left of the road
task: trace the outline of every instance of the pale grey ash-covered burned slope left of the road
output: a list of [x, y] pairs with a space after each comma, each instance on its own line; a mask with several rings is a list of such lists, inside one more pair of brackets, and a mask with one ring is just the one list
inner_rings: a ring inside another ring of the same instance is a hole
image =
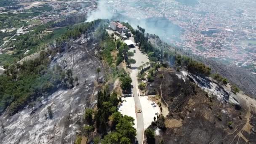
[[[1, 144], [74, 143], [75, 133], [80, 131], [85, 107], [96, 104], [95, 92], [99, 90], [95, 83], [96, 69], [103, 69], [103, 65], [96, 56], [99, 47], [93, 37], [88, 41], [82, 35], [79, 39], [66, 43], [63, 49], [64, 52], [51, 62], [51, 67], [59, 65], [66, 70], [72, 69], [78, 82], [74, 82], [72, 89], [59, 88], [50, 96], [42, 96], [42, 103], [36, 102], [33, 108], [35, 112], [26, 107], [13, 116], [1, 115]], [[103, 81], [103, 78], [102, 70], [99, 81]], [[49, 106], [53, 117], [46, 119]]]

